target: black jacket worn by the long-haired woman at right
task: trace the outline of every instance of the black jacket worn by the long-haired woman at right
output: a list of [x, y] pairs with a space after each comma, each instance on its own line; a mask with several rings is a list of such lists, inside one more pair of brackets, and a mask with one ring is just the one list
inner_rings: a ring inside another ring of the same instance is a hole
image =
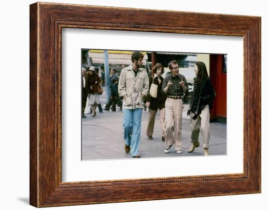
[[199, 97], [201, 99], [200, 99], [200, 109], [198, 111], [198, 115], [201, 113], [202, 109], [206, 105], [210, 106], [210, 111], [213, 108], [212, 103], [215, 98], [215, 90], [212, 85], [211, 78], [207, 77], [202, 81], [199, 93], [200, 93]]

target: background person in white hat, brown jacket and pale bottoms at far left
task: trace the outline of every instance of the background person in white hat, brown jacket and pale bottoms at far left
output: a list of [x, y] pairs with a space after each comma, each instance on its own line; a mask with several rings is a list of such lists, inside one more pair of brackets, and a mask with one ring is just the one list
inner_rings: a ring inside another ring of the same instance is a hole
[[87, 77], [87, 90], [89, 93], [89, 104], [91, 105], [92, 109], [92, 116], [96, 116], [96, 107], [99, 104], [99, 94], [102, 93], [100, 87], [100, 78], [95, 72], [95, 68], [91, 66], [89, 69], [89, 75]]

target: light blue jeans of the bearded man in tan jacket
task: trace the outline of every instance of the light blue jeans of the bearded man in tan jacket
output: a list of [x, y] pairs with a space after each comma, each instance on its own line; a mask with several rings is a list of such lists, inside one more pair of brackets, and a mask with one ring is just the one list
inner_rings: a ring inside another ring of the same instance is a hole
[[139, 153], [142, 109], [123, 109], [123, 129], [125, 144], [131, 146], [131, 155]]

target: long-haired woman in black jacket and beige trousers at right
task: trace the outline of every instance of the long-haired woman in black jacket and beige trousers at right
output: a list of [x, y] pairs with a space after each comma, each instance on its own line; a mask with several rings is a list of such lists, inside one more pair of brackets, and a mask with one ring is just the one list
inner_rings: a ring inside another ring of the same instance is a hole
[[194, 86], [188, 115], [191, 117], [191, 143], [188, 153], [199, 147], [198, 136], [201, 131], [203, 137], [204, 154], [209, 155], [210, 141], [210, 112], [215, 91], [208, 75], [205, 63], [196, 62], [194, 65]]

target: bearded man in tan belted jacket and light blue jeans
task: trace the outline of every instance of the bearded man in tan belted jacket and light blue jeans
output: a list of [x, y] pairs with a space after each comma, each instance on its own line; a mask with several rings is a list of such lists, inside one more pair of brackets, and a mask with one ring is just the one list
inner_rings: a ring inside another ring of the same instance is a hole
[[143, 64], [143, 54], [134, 52], [132, 64], [121, 71], [118, 92], [123, 97], [123, 129], [125, 152], [139, 158], [140, 127], [143, 98], [148, 95], [149, 79]]

